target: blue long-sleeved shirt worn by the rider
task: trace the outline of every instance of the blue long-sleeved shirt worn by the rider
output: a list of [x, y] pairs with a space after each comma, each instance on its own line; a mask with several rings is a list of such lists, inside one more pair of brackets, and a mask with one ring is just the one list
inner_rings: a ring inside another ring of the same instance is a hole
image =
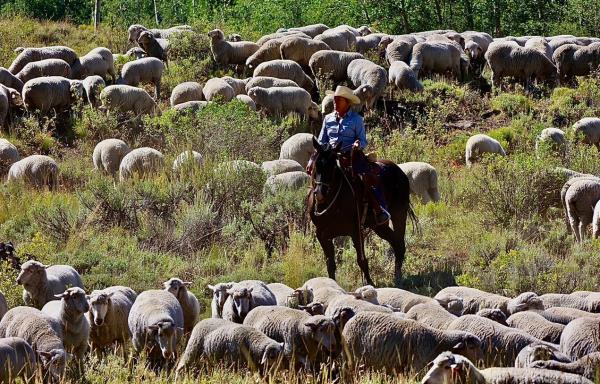
[[332, 112], [323, 119], [323, 127], [319, 134], [319, 143], [329, 143], [335, 146], [338, 142], [342, 143], [342, 152], [349, 151], [352, 144], [360, 141], [361, 149], [367, 146], [367, 135], [365, 133], [365, 123], [358, 113], [350, 110], [346, 112], [343, 118], [338, 121], [337, 112]]

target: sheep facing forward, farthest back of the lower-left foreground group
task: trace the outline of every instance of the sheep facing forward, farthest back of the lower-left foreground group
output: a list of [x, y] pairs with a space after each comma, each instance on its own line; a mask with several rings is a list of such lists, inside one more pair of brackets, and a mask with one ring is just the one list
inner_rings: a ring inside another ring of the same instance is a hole
[[81, 276], [68, 265], [44, 265], [29, 260], [21, 266], [17, 284], [23, 286], [23, 301], [28, 306], [41, 309], [47, 302], [59, 300], [69, 287], [83, 289]]

